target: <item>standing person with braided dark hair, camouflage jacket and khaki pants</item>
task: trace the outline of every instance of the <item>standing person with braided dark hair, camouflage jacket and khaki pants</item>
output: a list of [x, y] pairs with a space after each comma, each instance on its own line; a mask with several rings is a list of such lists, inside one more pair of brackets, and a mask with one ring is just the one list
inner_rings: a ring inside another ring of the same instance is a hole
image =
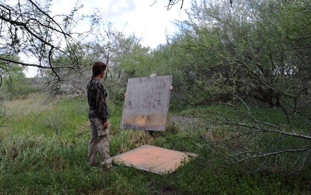
[[100, 79], [104, 77], [107, 65], [101, 61], [94, 62], [92, 66], [92, 78], [88, 82], [87, 102], [89, 105], [88, 119], [90, 127], [90, 139], [88, 143], [87, 162], [90, 166], [97, 164], [96, 154], [99, 149], [101, 166], [106, 169], [115, 169], [109, 156], [109, 123], [108, 107], [106, 104], [107, 93]]

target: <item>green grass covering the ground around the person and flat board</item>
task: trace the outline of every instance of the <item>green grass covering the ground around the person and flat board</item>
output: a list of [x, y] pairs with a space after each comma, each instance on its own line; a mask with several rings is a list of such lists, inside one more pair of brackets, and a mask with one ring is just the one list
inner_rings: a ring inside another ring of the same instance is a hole
[[[17, 106], [18, 105], [18, 106]], [[282, 170], [254, 171], [250, 162], [221, 168], [215, 151], [202, 147], [194, 137], [199, 131], [169, 124], [155, 138], [143, 131], [120, 129], [122, 107], [109, 104], [110, 156], [152, 144], [168, 149], [197, 153], [176, 172], [156, 175], [133, 167], [116, 165], [114, 171], [87, 164], [89, 128], [85, 98], [45, 102], [30, 99], [6, 104], [7, 116], [0, 128], [0, 195], [310, 195], [308, 174]], [[187, 109], [181, 114], [207, 117], [222, 107]], [[170, 113], [173, 115], [173, 113]], [[190, 115], [191, 114], [191, 115]], [[188, 127], [187, 127], [188, 128]], [[222, 139], [221, 129], [207, 126], [204, 144]], [[192, 133], [192, 134], [190, 134]], [[280, 161], [282, 159], [279, 157]]]

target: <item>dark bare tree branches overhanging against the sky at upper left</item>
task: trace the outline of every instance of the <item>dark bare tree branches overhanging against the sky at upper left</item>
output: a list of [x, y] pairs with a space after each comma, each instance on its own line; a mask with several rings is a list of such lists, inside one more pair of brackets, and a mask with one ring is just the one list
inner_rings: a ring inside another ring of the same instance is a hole
[[[76, 47], [84, 44], [84, 39], [99, 22], [97, 13], [83, 16], [90, 20], [90, 30], [74, 32], [78, 20], [75, 14], [83, 7], [76, 3], [69, 14], [51, 16], [49, 4], [40, 4], [33, 0], [18, 1], [16, 5], [0, 4], [0, 60], [3, 62], [20, 64], [24, 67], [37, 67], [48, 71], [49, 84], [59, 86], [62, 68], [79, 72], [82, 66], [76, 55]], [[12, 56], [23, 53], [28, 58], [35, 58], [35, 63], [26, 63], [22, 59], [15, 60]], [[52, 60], [53, 56], [67, 55], [70, 59], [65, 64]], [[57, 69], [56, 69], [57, 67]], [[2, 68], [5, 70], [5, 67]]]

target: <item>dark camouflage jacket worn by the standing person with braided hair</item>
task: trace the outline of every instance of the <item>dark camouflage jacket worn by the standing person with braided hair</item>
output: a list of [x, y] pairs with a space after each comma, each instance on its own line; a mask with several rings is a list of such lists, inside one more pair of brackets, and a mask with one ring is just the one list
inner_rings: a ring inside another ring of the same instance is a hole
[[87, 102], [89, 105], [88, 118], [108, 120], [108, 107], [106, 104], [107, 93], [104, 90], [103, 84], [99, 79], [92, 79], [88, 82], [87, 87]]

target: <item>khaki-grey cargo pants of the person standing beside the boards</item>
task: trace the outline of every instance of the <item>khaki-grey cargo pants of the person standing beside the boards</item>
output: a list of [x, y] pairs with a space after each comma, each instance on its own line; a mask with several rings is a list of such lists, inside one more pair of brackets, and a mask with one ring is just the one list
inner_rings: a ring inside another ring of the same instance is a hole
[[109, 156], [109, 126], [104, 128], [104, 121], [101, 119], [89, 119], [90, 138], [88, 143], [88, 158], [87, 162], [91, 166], [97, 163], [96, 153], [99, 149], [102, 166], [111, 167], [111, 158]]

